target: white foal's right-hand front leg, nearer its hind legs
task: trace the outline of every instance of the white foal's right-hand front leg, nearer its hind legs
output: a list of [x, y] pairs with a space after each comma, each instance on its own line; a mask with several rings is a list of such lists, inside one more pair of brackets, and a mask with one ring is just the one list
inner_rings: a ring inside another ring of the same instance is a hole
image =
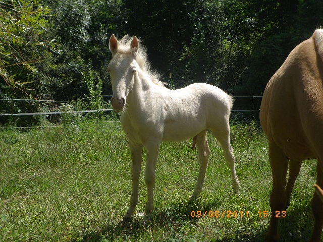
[[160, 141], [150, 140], [146, 143], [145, 149], [147, 152], [146, 158], [146, 171], [145, 171], [145, 183], [147, 186], [148, 201], [145, 206], [144, 222], [151, 221], [151, 213], [153, 210], [153, 188], [155, 186], [156, 179], [156, 163], [158, 157]]

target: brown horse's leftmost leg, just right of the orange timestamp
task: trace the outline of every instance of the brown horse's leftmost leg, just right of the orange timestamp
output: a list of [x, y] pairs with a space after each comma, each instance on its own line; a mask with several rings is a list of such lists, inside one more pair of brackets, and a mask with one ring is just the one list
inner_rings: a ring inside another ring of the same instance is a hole
[[269, 141], [268, 155], [273, 173], [273, 190], [270, 196], [272, 216], [267, 233], [267, 241], [278, 241], [278, 218], [275, 215], [276, 211], [284, 210], [286, 205], [285, 180], [288, 158], [273, 140]]

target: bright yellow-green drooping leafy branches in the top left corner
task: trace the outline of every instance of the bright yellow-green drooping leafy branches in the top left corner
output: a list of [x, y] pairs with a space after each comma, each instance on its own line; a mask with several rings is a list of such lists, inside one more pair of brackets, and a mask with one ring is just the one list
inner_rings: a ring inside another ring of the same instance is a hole
[[33, 64], [42, 59], [39, 48], [58, 52], [55, 39], [44, 38], [50, 11], [39, 0], [0, 1], [0, 76], [8, 85], [24, 88], [30, 83], [15, 80], [17, 67], [36, 72]]

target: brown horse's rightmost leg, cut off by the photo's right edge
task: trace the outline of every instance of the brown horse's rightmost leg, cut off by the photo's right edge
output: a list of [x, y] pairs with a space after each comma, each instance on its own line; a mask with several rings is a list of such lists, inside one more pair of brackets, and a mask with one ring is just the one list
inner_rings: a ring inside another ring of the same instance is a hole
[[[316, 184], [320, 187], [323, 186], [323, 171], [319, 165], [320, 160], [317, 159], [317, 167], [316, 167]], [[311, 242], [319, 242], [321, 241], [321, 233], [323, 228], [323, 202], [320, 200], [317, 193], [314, 193], [312, 198], [312, 210], [314, 215], [314, 230], [311, 237]]]

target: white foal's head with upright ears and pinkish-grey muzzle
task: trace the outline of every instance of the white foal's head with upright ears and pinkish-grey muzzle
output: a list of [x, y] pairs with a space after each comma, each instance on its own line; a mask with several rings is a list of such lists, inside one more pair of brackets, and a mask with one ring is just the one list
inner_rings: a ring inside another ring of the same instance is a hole
[[110, 37], [109, 48], [113, 57], [107, 70], [111, 77], [113, 92], [111, 104], [114, 111], [121, 112], [123, 110], [126, 97], [133, 86], [134, 74], [137, 71], [138, 45], [136, 36], [132, 38], [128, 46], [123, 41], [118, 42], [114, 34]]

